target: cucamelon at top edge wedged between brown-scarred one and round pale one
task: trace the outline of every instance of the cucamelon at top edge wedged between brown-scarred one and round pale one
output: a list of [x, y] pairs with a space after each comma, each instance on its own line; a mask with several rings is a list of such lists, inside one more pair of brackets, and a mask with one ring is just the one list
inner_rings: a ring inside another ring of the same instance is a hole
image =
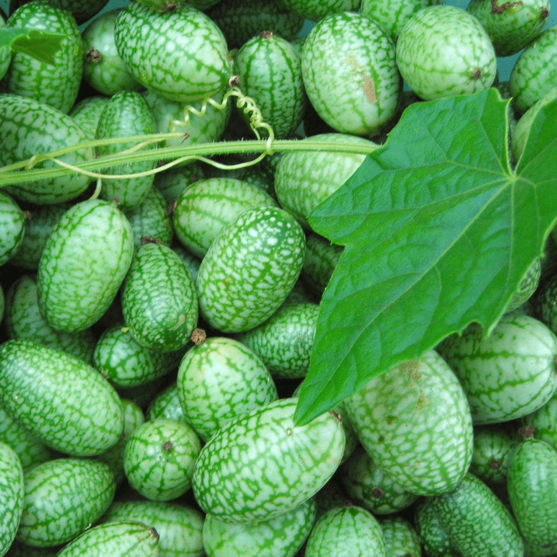
[[402, 27], [418, 10], [442, 3], [443, 0], [361, 0], [360, 13], [375, 19], [396, 43]]

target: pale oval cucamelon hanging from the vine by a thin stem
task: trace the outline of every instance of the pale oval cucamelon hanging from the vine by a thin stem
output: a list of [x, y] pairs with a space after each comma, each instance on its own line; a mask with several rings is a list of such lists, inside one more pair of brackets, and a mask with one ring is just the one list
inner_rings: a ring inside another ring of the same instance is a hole
[[82, 331], [104, 314], [132, 262], [132, 228], [114, 203], [73, 205], [52, 230], [40, 258], [39, 307], [55, 329]]

